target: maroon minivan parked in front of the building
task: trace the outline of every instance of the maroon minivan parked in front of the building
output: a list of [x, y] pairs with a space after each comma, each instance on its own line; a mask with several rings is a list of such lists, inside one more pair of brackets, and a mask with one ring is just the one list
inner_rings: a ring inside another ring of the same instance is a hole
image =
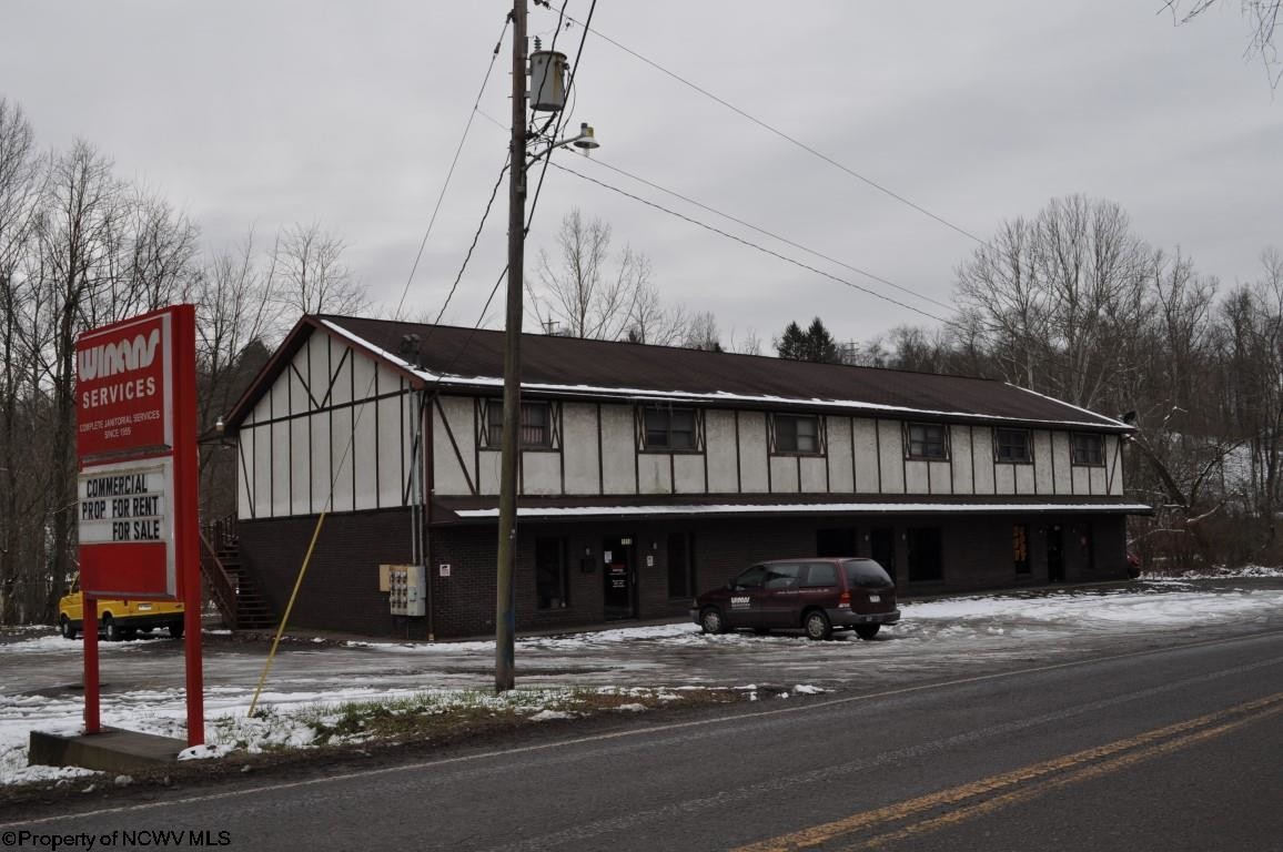
[[690, 617], [704, 633], [802, 629], [808, 639], [828, 639], [854, 630], [872, 639], [881, 625], [899, 621], [899, 609], [896, 583], [872, 559], [810, 557], [754, 565], [695, 598]]

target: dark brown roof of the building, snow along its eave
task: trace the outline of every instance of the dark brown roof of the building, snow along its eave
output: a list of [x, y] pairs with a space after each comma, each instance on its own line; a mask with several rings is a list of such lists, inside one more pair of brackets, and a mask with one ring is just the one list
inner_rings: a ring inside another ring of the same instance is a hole
[[[321, 327], [332, 323], [390, 353], [394, 361], [402, 337], [416, 334], [421, 341], [418, 363], [425, 375], [444, 376], [444, 386], [485, 388], [503, 376], [502, 331], [328, 314], [307, 320]], [[756, 400], [752, 407], [872, 405], [907, 409], [924, 418], [953, 416], [1130, 431], [1116, 420], [989, 379], [531, 334], [522, 335], [521, 361], [522, 385], [538, 386], [534, 390], [540, 395], [645, 398], [653, 393], [722, 405], [744, 396]], [[899, 416], [894, 411], [888, 414]]]

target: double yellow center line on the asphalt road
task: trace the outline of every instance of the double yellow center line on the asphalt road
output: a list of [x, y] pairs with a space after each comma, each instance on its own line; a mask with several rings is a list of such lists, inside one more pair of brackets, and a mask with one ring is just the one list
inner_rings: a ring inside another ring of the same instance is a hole
[[[1010, 772], [990, 775], [989, 778], [983, 778], [980, 780], [962, 784], [947, 790], [940, 790], [938, 793], [930, 793], [928, 796], [907, 799], [905, 802], [897, 802], [896, 805], [875, 808], [872, 811], [853, 814], [852, 816], [833, 822], [815, 825], [802, 829], [801, 831], [793, 831], [790, 834], [783, 834], [767, 840], [743, 846], [735, 849], [735, 852], [788, 852], [792, 849], [807, 849], [824, 843], [830, 843], [837, 838], [852, 834], [861, 829], [906, 820], [931, 808], [957, 805], [960, 802], [965, 802], [966, 799], [989, 793], [997, 793], [1020, 784], [1028, 784], [1029, 781], [1035, 781], [1057, 772], [1065, 774], [1061, 778], [1044, 780], [1025, 789], [1003, 793], [994, 798], [985, 799], [984, 802], [965, 806], [951, 814], [906, 826], [897, 831], [881, 834], [876, 838], [871, 838], [847, 848], [863, 849], [875, 846], [884, 846], [885, 843], [890, 843], [893, 840], [916, 834], [924, 834], [951, 824], [961, 822], [966, 819], [993, 812], [1002, 807], [1034, 798], [1035, 796], [1041, 796], [1051, 789], [1088, 780], [1091, 778], [1098, 778], [1106, 772], [1132, 766], [1141, 761], [1192, 746], [1212, 737], [1219, 737], [1251, 721], [1256, 721], [1278, 712], [1283, 712], [1283, 693], [1275, 693], [1266, 698], [1260, 698], [1236, 707], [1216, 711], [1214, 713], [1207, 713], [1206, 716], [1198, 716], [1183, 722], [1144, 731], [1142, 734], [1137, 734], [1135, 737], [1106, 743], [1105, 746], [1097, 746], [1094, 748], [1056, 757], [1041, 763], [1023, 766]], [[1232, 716], [1245, 715], [1247, 716], [1245, 719], [1228, 722], [1225, 721]], [[1160, 740], [1169, 742], [1164, 743]], [[1087, 763], [1092, 763], [1093, 761], [1100, 761], [1101, 758], [1111, 757], [1129, 749], [1137, 751], [1130, 754], [1114, 757], [1112, 760], [1096, 763], [1094, 766], [1084, 766]]]

